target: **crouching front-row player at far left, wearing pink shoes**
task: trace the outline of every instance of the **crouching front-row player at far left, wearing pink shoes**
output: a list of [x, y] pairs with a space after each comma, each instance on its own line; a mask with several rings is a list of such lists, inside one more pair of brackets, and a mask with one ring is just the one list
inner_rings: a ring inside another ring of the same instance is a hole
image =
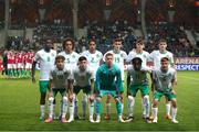
[[[73, 121], [74, 114], [74, 100], [73, 100], [73, 90], [71, 84], [71, 70], [64, 66], [64, 56], [55, 57], [55, 67], [50, 72], [50, 94], [49, 94], [49, 118], [45, 119], [45, 122], [53, 121], [53, 101], [57, 92], [62, 96], [61, 101], [61, 121], [62, 123], [66, 122], [65, 116], [67, 111], [67, 103], [70, 102], [70, 119], [67, 122]], [[66, 91], [69, 90], [69, 95]]]

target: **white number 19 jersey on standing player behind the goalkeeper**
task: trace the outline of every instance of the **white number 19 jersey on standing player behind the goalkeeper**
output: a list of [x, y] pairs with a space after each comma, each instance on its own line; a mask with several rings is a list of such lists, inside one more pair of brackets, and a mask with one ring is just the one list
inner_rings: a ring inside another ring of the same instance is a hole
[[[119, 53], [115, 53], [112, 50], [112, 51], [108, 51], [107, 53], [112, 53], [114, 55], [114, 64], [121, 68], [122, 80], [124, 80], [124, 63], [125, 63], [124, 61], [127, 58], [126, 52], [119, 51]], [[103, 58], [104, 62], [105, 62], [105, 56], [107, 53], [104, 54], [104, 58]]]

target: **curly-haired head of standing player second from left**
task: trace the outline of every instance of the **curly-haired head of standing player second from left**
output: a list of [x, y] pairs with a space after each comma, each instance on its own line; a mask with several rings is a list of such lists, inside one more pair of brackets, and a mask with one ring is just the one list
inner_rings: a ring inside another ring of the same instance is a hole
[[74, 45], [74, 40], [71, 38], [71, 37], [65, 38], [65, 40], [63, 41], [62, 46], [63, 46], [63, 50], [64, 50], [65, 52], [71, 53], [72, 51], [74, 51], [74, 47], [75, 47], [75, 45]]

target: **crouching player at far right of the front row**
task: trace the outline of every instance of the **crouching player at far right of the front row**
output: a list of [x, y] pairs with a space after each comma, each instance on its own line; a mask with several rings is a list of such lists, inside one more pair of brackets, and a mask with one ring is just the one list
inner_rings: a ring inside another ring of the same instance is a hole
[[172, 105], [171, 121], [174, 123], [178, 123], [176, 120], [177, 99], [176, 91], [174, 90], [177, 82], [176, 70], [168, 66], [169, 59], [167, 57], [163, 57], [160, 63], [161, 67], [153, 72], [153, 81], [155, 84], [155, 89], [153, 89], [153, 122], [157, 123], [158, 121], [158, 101], [160, 100], [161, 96], [165, 96], [169, 101], [171, 101]]

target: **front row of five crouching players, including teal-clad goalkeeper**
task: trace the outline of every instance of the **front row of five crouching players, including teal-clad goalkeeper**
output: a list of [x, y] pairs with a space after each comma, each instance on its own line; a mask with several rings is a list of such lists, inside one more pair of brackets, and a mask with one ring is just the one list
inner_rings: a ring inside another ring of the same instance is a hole
[[[148, 123], [157, 123], [158, 101], [161, 96], [165, 96], [172, 105], [171, 121], [178, 123], [176, 120], [177, 114], [177, 101], [174, 87], [176, 85], [176, 70], [169, 67], [169, 59], [163, 57], [159, 69], [153, 70], [142, 66], [142, 59], [135, 57], [132, 61], [132, 65], [127, 68], [127, 97], [128, 97], [128, 118], [123, 119], [122, 110], [122, 95], [124, 92], [121, 69], [113, 64], [114, 56], [112, 53], [105, 55], [105, 63], [100, 66], [96, 72], [96, 78], [94, 73], [87, 66], [87, 59], [84, 56], [78, 58], [77, 67], [73, 70], [67, 69], [64, 66], [64, 56], [55, 57], [55, 67], [50, 73], [50, 95], [49, 95], [49, 118], [45, 122], [53, 121], [53, 101], [57, 92], [62, 96], [61, 101], [61, 121], [72, 122], [74, 120], [74, 103], [77, 94], [82, 89], [83, 95], [83, 118], [86, 113], [86, 105], [88, 101], [90, 122], [101, 122], [102, 110], [102, 97], [104, 95], [112, 95], [115, 99], [116, 110], [119, 122], [129, 122], [134, 119], [134, 105], [135, 97], [138, 90], [142, 92], [144, 99], [144, 107], [146, 109], [146, 121]], [[150, 103], [149, 103], [149, 87], [147, 73], [153, 73], [153, 118], [149, 118]], [[94, 87], [95, 79], [95, 87]], [[66, 120], [67, 107], [70, 110], [70, 119]], [[94, 107], [96, 113], [96, 120], [94, 121]], [[77, 109], [76, 109], [77, 110]], [[77, 111], [76, 111], [77, 113]]]

